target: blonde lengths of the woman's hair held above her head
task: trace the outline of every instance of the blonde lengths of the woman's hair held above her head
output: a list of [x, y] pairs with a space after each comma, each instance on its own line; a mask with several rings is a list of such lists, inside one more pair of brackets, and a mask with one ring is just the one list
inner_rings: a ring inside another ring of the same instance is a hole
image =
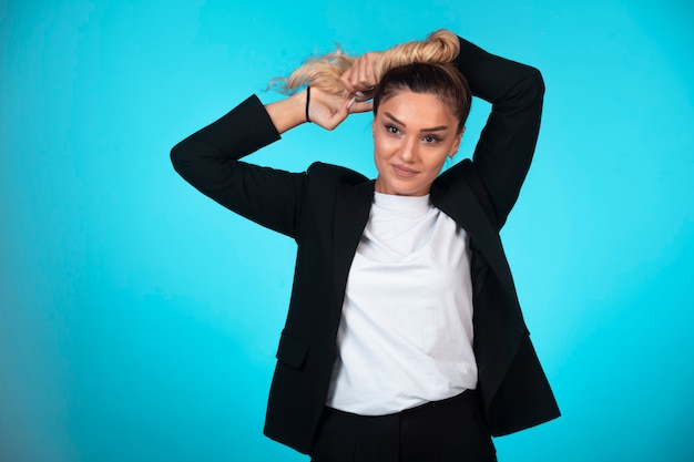
[[[440, 64], [452, 62], [460, 52], [458, 37], [449, 30], [440, 29], [427, 35], [422, 41], [411, 41], [386, 50], [376, 63], [376, 79], [381, 78], [391, 69], [412, 64]], [[338, 45], [337, 50], [307, 60], [287, 78], [277, 78], [271, 88], [293, 94], [305, 85], [316, 86], [344, 97], [349, 96], [339, 78], [349, 69], [355, 57], [345, 53]]]

